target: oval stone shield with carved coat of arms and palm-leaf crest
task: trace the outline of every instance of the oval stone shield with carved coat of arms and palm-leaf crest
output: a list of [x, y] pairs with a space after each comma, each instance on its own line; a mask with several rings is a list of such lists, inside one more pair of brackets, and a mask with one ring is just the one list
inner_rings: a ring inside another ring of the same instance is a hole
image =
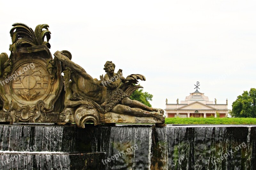
[[35, 31], [21, 23], [12, 26], [11, 55], [0, 55], [3, 111], [11, 114], [10, 122], [36, 122], [41, 113], [53, 110], [60, 95], [61, 63], [50, 53], [47, 24], [36, 26]]

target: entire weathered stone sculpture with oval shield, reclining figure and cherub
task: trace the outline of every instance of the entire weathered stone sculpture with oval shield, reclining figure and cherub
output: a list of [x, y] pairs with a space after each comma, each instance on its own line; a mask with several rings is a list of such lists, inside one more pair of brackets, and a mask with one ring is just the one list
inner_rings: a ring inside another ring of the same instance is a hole
[[146, 80], [143, 75], [124, 78], [122, 70], [115, 73], [115, 64], [108, 61], [105, 76], [98, 80], [72, 62], [67, 50], [57, 51], [53, 59], [48, 27], [38, 25], [33, 31], [13, 24], [11, 55], [0, 54], [0, 122], [76, 122], [81, 128], [85, 122], [164, 123], [163, 109], [129, 98], [143, 88], [136, 85]]

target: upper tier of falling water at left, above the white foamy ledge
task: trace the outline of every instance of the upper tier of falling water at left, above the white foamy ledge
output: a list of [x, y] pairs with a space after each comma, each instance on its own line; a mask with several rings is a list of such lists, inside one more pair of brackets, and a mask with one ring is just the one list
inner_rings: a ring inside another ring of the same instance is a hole
[[61, 152], [62, 126], [0, 125], [0, 151]]

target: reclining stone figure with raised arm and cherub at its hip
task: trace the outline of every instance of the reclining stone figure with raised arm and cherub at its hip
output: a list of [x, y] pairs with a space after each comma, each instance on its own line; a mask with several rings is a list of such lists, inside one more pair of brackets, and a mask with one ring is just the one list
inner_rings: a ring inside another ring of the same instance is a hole
[[[130, 92], [133, 92], [130, 87], [137, 81], [136, 79], [135, 81], [131, 81], [132, 78], [133, 80], [136, 77], [143, 79], [144, 76], [130, 75], [130, 77], [128, 76], [126, 79], [122, 76], [118, 76], [115, 81], [112, 81], [117, 74], [114, 74], [115, 65], [112, 62], [106, 62], [104, 70], [107, 74], [104, 76], [104, 80], [111, 82], [106, 84], [105, 87], [102, 85], [102, 81], [93, 79], [81, 66], [72, 62], [60, 51], [55, 52], [54, 56], [65, 65], [65, 70], [63, 71], [66, 90], [65, 107], [79, 107], [80, 105], [85, 105], [88, 107], [96, 107], [100, 113], [111, 111], [118, 114], [138, 117], [151, 116], [164, 121], [163, 109], [148, 107], [128, 97], [131, 94]], [[121, 81], [125, 82], [118, 88]]]

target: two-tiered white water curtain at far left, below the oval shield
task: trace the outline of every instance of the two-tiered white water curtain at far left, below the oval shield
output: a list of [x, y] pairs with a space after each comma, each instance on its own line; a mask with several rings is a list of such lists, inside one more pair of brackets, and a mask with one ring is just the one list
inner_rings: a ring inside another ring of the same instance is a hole
[[63, 126], [0, 126], [1, 169], [69, 169], [62, 136]]

